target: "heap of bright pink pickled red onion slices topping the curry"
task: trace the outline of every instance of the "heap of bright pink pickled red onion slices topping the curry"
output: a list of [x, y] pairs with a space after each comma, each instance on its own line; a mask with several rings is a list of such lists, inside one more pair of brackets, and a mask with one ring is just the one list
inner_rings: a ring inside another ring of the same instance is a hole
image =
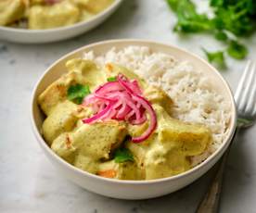
[[[83, 100], [83, 106], [92, 107], [95, 115], [83, 119], [83, 123], [93, 123], [96, 120], [118, 119], [125, 120], [132, 125], [143, 124], [149, 117], [147, 130], [140, 136], [132, 138], [134, 143], [140, 143], [151, 135], [157, 128], [157, 116], [136, 80], [129, 81], [122, 74], [117, 81], [110, 81], [99, 86], [94, 94]], [[147, 113], [147, 115], [146, 115]]]

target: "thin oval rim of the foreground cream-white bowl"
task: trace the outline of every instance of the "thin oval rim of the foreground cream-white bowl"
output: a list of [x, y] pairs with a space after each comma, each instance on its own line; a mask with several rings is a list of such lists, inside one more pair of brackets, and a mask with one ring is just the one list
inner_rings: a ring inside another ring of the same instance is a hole
[[[209, 66], [210, 69], [220, 78], [220, 81], [222, 81], [222, 83], [224, 84], [224, 87], [227, 89], [227, 92], [228, 92], [230, 100], [231, 100], [231, 111], [232, 111], [231, 118], [230, 118], [230, 131], [226, 135], [226, 138], [225, 138], [224, 142], [220, 145], [220, 147], [217, 150], [215, 150], [215, 152], [212, 153], [210, 157], [207, 157], [203, 162], [198, 164], [196, 167], [194, 167], [192, 169], [188, 169], [185, 172], [182, 172], [180, 174], [177, 174], [177, 175], [174, 175], [171, 177], [160, 178], [160, 179], [155, 179], [155, 180], [134, 181], [134, 180], [117, 180], [117, 179], [104, 178], [104, 177], [100, 177], [98, 175], [89, 173], [87, 171], [84, 171], [82, 169], [78, 169], [78, 168], [72, 166], [70, 163], [66, 162], [61, 157], [58, 157], [58, 155], [55, 154], [52, 151], [52, 149], [46, 144], [43, 136], [38, 131], [36, 124], [35, 124], [34, 117], [33, 117], [33, 105], [34, 105], [34, 102], [37, 103], [37, 101], [36, 101], [37, 97], [35, 96], [35, 94], [37, 92], [37, 88], [38, 88], [39, 84], [41, 83], [41, 81], [44, 79], [45, 75], [48, 73], [48, 71], [50, 71], [52, 68], [54, 68], [62, 60], [65, 60], [66, 58], [76, 54], [77, 52], [81, 52], [83, 49], [86, 49], [86, 48], [93, 49], [94, 46], [98, 46], [98, 45], [102, 45], [102, 44], [103, 45], [104, 44], [113, 44], [114, 45], [114, 44], [122, 44], [122, 43], [134, 43], [134, 44], [129, 44], [129, 45], [148, 45], [148, 44], [163, 45], [168, 48], [176, 49], [176, 50], [183, 52], [185, 54], [188, 54], [190, 56], [194, 56], [196, 59], [198, 59], [198, 61]], [[205, 59], [201, 58], [200, 56], [197, 56], [194, 53], [188, 52], [186, 49], [180, 48], [173, 44], [161, 43], [161, 42], [157, 42], [157, 41], [153, 41], [153, 40], [146, 40], [146, 39], [115, 39], [115, 40], [101, 41], [101, 42], [97, 42], [97, 43], [93, 43], [93, 44], [84, 45], [78, 49], [71, 51], [70, 53], [68, 53], [64, 56], [61, 56], [57, 61], [55, 61], [52, 65], [50, 65], [45, 70], [45, 72], [40, 76], [39, 80], [36, 82], [36, 84], [33, 88], [33, 91], [32, 91], [30, 111], [31, 111], [30, 119], [31, 119], [31, 125], [32, 125], [32, 132], [34, 133], [38, 143], [40, 144], [41, 147], [43, 147], [45, 149], [45, 151], [49, 155], [51, 155], [51, 157], [54, 157], [55, 160], [57, 160], [59, 164], [62, 164], [64, 167], [67, 167], [68, 169], [71, 169], [72, 171], [77, 172], [81, 175], [85, 175], [85, 176], [87, 176], [87, 178], [93, 178], [93, 179], [96, 179], [101, 182], [111, 182], [111, 183], [121, 183], [121, 184], [154, 184], [154, 183], [158, 183], [158, 182], [169, 182], [169, 181], [174, 181], [174, 180], [177, 180], [180, 178], [184, 178], [186, 176], [189, 176], [189, 175], [195, 173], [196, 171], [198, 171], [199, 169], [203, 168], [208, 163], [210, 163], [215, 157], [220, 155], [222, 151], [224, 151], [224, 148], [230, 144], [230, 142], [234, 136], [234, 133], [236, 131], [236, 125], [237, 125], [237, 107], [236, 107], [236, 103], [234, 100], [234, 95], [230, 89], [228, 82], [224, 80], [224, 77], [220, 74], [220, 72], [217, 69], [215, 69], [213, 66], [211, 66], [211, 64], [208, 61], [206, 61]]]

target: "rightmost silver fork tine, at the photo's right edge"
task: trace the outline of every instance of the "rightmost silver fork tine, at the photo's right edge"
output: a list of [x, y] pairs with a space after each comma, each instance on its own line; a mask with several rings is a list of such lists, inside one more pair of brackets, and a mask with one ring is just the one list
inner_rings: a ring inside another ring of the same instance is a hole
[[250, 90], [250, 96], [248, 99], [248, 105], [245, 109], [251, 116], [255, 115], [256, 110], [256, 64], [252, 63], [252, 76], [251, 76], [252, 88]]

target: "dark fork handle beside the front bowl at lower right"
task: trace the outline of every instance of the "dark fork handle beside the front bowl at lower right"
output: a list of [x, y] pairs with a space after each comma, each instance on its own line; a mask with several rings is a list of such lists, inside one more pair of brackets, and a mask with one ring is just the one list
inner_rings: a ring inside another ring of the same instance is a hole
[[[237, 131], [234, 134], [231, 144], [235, 141]], [[196, 213], [217, 213], [219, 210], [220, 196], [222, 192], [222, 183], [224, 179], [224, 168], [226, 165], [227, 157], [230, 151], [230, 147], [227, 148], [224, 156], [221, 159], [218, 170], [208, 188], [207, 193], [203, 197], [202, 201], [198, 205]]]

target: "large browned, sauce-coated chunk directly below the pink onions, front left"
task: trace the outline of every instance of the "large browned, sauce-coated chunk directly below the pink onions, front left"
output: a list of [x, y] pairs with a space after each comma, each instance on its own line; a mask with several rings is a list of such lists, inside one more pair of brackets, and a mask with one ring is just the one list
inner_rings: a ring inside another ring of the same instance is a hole
[[125, 124], [116, 120], [82, 124], [72, 132], [60, 134], [51, 148], [75, 167], [96, 174], [100, 161], [110, 158], [126, 134]]

